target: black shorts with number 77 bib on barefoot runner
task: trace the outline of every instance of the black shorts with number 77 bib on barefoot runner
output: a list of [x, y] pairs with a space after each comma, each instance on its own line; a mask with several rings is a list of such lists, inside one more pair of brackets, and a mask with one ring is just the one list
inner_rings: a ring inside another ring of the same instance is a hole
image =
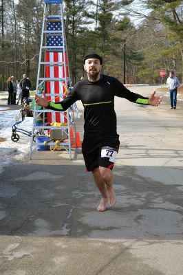
[[93, 171], [99, 166], [112, 170], [118, 153], [119, 142], [114, 145], [103, 146], [100, 142], [96, 144], [95, 142], [88, 143], [88, 141], [88, 139], [84, 139], [82, 144], [82, 153], [87, 171]]

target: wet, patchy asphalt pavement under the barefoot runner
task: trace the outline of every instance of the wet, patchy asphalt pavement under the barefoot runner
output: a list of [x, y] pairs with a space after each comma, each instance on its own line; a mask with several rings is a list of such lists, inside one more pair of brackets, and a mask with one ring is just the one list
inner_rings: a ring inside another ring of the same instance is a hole
[[[155, 87], [130, 89], [149, 96]], [[115, 106], [118, 201], [105, 212], [80, 149], [69, 160], [0, 148], [1, 275], [183, 274], [183, 101], [176, 110], [167, 96], [159, 107]], [[83, 117], [76, 126], [82, 139]]]

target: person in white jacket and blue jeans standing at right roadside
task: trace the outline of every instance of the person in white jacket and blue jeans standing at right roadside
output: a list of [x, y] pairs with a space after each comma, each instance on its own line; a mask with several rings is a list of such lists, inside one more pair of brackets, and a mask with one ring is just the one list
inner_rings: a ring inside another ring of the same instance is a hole
[[176, 109], [177, 106], [177, 88], [180, 87], [180, 82], [174, 72], [169, 73], [169, 78], [166, 80], [166, 87], [169, 88], [171, 107], [170, 109]]

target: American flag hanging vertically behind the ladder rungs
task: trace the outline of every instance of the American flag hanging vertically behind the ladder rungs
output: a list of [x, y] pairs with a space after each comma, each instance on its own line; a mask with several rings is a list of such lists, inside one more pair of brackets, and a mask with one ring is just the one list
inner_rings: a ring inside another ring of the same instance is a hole
[[[47, 23], [47, 30], [58, 30], [61, 31], [62, 25], [61, 21], [49, 21]], [[61, 47], [59, 51], [54, 52], [45, 52], [45, 61], [46, 62], [65, 62], [65, 65], [53, 65], [53, 66], [45, 66], [45, 77], [46, 78], [65, 78], [66, 81], [46, 81], [45, 82], [45, 89], [46, 94], [50, 94], [47, 96], [47, 100], [51, 100], [52, 102], [60, 102], [65, 98], [65, 96], [61, 96], [59, 94], [65, 94], [67, 92], [67, 54], [66, 52], [63, 53], [63, 39], [61, 33], [58, 34], [47, 34], [46, 38], [46, 45], [52, 47]], [[65, 54], [65, 56], [64, 56]], [[66, 68], [66, 69], [65, 69]], [[66, 76], [65, 76], [66, 71]], [[58, 94], [52, 95], [52, 94]], [[60, 123], [67, 123], [67, 111], [65, 112], [53, 112], [47, 113], [47, 122], [48, 124], [52, 122], [60, 122]]]

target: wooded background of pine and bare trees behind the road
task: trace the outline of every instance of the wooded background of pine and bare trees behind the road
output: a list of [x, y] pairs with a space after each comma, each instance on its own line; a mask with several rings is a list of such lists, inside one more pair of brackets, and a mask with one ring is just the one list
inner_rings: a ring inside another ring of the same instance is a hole
[[[140, 3], [140, 6], [137, 3]], [[26, 73], [36, 85], [44, 0], [0, 0], [0, 89]], [[72, 84], [83, 56], [103, 56], [103, 73], [122, 83], [160, 84], [160, 70], [183, 81], [183, 3], [171, 0], [63, 1]]]

